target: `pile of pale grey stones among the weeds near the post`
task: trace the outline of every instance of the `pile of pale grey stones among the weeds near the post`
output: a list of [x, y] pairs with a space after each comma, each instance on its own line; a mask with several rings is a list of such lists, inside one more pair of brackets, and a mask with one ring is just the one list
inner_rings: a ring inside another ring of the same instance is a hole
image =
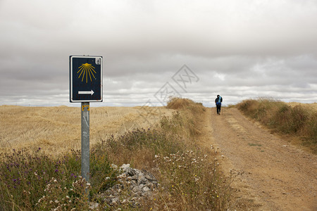
[[151, 200], [159, 186], [153, 174], [146, 170], [132, 169], [130, 164], [122, 165], [120, 172], [118, 184], [102, 193], [101, 197], [108, 205], [139, 207], [145, 200]]

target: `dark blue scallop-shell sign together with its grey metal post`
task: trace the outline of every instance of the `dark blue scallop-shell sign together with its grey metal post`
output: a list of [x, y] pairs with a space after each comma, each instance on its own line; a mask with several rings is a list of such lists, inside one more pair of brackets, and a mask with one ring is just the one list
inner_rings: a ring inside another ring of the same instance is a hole
[[102, 56], [70, 56], [70, 102], [81, 105], [81, 175], [89, 182], [89, 102], [102, 102]]

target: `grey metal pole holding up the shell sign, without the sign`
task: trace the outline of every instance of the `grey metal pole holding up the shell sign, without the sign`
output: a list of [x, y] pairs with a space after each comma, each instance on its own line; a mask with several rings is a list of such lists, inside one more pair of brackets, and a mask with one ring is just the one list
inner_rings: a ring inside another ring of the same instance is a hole
[[82, 177], [89, 182], [89, 102], [82, 102]]

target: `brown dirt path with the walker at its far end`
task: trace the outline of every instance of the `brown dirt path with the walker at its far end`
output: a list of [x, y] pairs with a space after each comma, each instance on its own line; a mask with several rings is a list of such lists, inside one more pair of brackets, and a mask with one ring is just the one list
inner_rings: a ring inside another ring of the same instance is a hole
[[[204, 143], [218, 148], [237, 210], [317, 210], [317, 156], [251, 122], [236, 108], [209, 108]], [[223, 155], [223, 159], [222, 156]]]

